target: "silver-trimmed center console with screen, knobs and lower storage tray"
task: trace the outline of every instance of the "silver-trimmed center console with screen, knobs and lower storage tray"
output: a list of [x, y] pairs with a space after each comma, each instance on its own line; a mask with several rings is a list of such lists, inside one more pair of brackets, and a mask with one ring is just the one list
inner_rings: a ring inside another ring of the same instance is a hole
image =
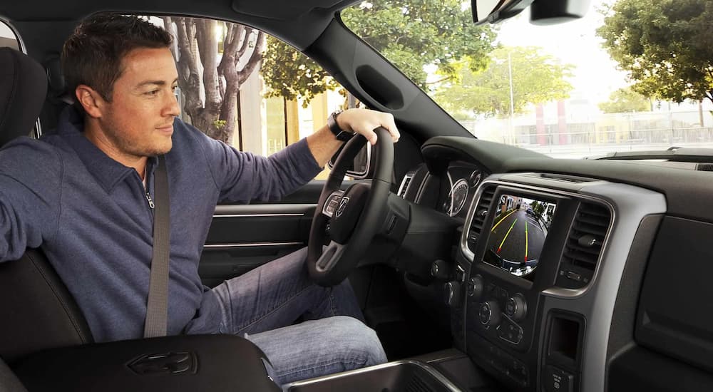
[[663, 212], [664, 197], [640, 187], [491, 175], [473, 197], [445, 285], [461, 357], [387, 363], [289, 391], [604, 391], [626, 260], [645, 217]]

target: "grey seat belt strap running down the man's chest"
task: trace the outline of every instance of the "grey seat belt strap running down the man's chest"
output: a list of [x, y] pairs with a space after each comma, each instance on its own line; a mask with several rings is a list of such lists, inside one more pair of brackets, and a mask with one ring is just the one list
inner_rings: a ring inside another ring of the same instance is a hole
[[168, 327], [168, 260], [170, 257], [170, 200], [168, 172], [163, 155], [158, 157], [153, 186], [153, 259], [148, 284], [143, 337], [166, 336]]

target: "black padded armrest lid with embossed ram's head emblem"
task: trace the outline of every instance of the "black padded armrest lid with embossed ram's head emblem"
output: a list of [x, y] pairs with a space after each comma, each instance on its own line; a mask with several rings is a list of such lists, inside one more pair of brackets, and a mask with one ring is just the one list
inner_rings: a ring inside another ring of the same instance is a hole
[[277, 392], [265, 354], [233, 335], [181, 335], [52, 349], [12, 370], [28, 391]]

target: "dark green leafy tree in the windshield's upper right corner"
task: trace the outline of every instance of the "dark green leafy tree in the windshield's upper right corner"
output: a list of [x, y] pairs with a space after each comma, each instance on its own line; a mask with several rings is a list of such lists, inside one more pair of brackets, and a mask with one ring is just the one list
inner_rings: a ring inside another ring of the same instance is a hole
[[713, 101], [713, 1], [618, 0], [597, 34], [636, 83], [661, 100]]

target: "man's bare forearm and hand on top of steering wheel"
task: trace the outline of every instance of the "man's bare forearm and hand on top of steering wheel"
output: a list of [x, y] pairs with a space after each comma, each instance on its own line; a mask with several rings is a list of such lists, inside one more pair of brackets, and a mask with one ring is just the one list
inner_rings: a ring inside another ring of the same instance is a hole
[[[391, 133], [391, 140], [394, 140], [394, 143], [399, 141], [401, 137], [399, 130], [396, 129], [396, 123], [394, 123], [394, 116], [391, 113], [382, 113], [375, 110], [344, 110], [336, 116], [336, 125], [344, 132], [364, 135], [372, 145], [376, 143], [374, 129], [379, 127], [384, 127]], [[307, 136], [309, 151], [314, 155], [314, 160], [317, 161], [319, 167], [327, 165], [329, 158], [332, 158], [332, 155], [337, 153], [343, 143], [342, 140], [337, 139], [327, 125]]]

